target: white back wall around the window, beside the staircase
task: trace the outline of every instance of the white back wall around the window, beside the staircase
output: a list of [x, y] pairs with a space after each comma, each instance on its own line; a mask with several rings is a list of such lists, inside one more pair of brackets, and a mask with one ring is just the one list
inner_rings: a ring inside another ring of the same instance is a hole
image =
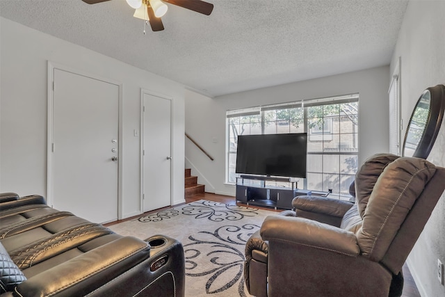
[[359, 93], [359, 163], [363, 163], [372, 154], [389, 151], [388, 88], [389, 67], [382, 66], [213, 99], [187, 90], [186, 133], [215, 160], [186, 140], [186, 167], [192, 168], [207, 192], [235, 195], [234, 186], [224, 184], [227, 110], [350, 93]]

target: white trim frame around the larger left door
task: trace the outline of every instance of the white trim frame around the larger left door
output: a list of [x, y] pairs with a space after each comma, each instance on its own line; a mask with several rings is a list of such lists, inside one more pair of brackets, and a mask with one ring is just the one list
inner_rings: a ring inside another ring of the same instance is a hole
[[73, 74], [79, 74], [83, 77], [90, 77], [106, 83], [111, 83], [118, 86], [119, 89], [119, 103], [118, 103], [118, 219], [122, 219], [122, 94], [123, 85], [113, 79], [99, 77], [96, 74], [91, 74], [82, 70], [74, 69], [66, 65], [61, 65], [51, 61], [47, 61], [48, 65], [48, 81], [47, 81], [47, 204], [52, 207], [54, 202], [54, 158], [53, 158], [53, 143], [54, 143], [54, 70], [63, 70]]

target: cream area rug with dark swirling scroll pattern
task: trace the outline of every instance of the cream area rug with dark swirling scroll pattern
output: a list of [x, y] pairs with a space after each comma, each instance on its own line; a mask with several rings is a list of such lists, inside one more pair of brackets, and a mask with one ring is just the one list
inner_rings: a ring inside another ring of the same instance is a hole
[[244, 285], [244, 247], [273, 211], [199, 200], [110, 226], [147, 239], [163, 234], [181, 241], [186, 296], [250, 296]]

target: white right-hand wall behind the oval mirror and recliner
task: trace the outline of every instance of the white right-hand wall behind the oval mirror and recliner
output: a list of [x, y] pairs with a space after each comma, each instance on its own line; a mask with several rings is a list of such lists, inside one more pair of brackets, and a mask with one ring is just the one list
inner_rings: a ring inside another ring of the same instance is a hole
[[[444, 12], [445, 1], [410, 1], [407, 6], [391, 61], [392, 71], [398, 57], [401, 57], [402, 118], [405, 126], [423, 90], [445, 84]], [[445, 166], [445, 122], [442, 122], [428, 161]], [[436, 269], [437, 259], [445, 263], [444, 196], [407, 260], [421, 296], [445, 296], [445, 287], [439, 283]]]

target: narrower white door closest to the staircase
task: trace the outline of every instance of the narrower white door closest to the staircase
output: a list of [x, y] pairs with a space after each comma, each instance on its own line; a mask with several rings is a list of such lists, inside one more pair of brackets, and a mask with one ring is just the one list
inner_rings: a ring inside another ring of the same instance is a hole
[[143, 93], [143, 211], [171, 205], [172, 102]]

